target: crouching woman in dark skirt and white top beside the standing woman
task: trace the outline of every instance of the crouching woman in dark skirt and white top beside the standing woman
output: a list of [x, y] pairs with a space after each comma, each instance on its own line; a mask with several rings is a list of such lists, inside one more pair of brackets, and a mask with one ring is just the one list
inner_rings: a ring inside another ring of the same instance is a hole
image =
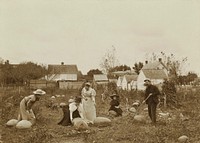
[[63, 118], [58, 123], [62, 126], [69, 126], [72, 125], [73, 119], [75, 118], [82, 118], [83, 117], [83, 109], [81, 104], [81, 97], [75, 97], [74, 99], [69, 100], [69, 104], [62, 106], [63, 110]]

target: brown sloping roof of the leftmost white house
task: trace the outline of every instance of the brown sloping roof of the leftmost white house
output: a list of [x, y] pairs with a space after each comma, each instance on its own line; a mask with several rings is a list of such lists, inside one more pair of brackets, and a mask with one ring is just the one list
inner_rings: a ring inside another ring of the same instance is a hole
[[78, 74], [76, 65], [48, 65], [50, 74]]

